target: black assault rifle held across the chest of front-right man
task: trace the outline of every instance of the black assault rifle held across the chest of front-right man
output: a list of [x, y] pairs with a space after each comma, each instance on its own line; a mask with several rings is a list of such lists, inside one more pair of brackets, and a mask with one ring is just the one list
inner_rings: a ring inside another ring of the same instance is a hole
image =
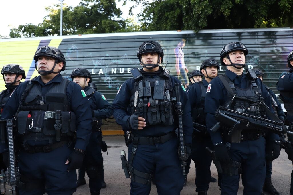
[[[220, 121], [219, 123], [230, 128], [228, 135], [232, 135], [232, 139], [236, 142], [240, 142], [238, 138], [241, 137], [241, 130], [261, 130], [279, 135], [287, 132], [287, 127], [281, 121], [272, 121], [247, 113], [237, 112], [224, 106], [219, 106], [215, 113], [215, 118]], [[211, 130], [217, 131], [219, 123], [214, 126], [217, 128], [211, 128]], [[234, 131], [236, 132], [234, 133]]]

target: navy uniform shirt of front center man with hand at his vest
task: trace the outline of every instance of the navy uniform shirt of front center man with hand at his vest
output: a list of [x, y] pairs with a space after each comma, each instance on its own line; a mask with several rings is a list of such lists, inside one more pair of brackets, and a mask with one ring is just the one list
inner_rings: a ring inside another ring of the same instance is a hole
[[[146, 78], [148, 76], [145, 76]], [[153, 76], [154, 78], [157, 76]], [[176, 77], [170, 76], [171, 84], [173, 87], [173, 93], [175, 95], [175, 83], [179, 83], [179, 80]], [[130, 118], [130, 114], [127, 113], [127, 106], [130, 104], [130, 98], [132, 96], [131, 90], [134, 89], [135, 80], [133, 78], [127, 79], [122, 86], [120, 87], [114, 101], [112, 104], [112, 112], [113, 116], [116, 119], [116, 122], [122, 126], [122, 129], [127, 130], [129, 129], [127, 120]], [[184, 131], [184, 138], [185, 143], [191, 144], [191, 135], [193, 132], [193, 125], [191, 119], [191, 108], [190, 103], [188, 100], [188, 96], [183, 91], [181, 87], [180, 90], [180, 101], [182, 103], [182, 110], [183, 110], [183, 131]], [[163, 125], [152, 125], [144, 127], [142, 130], [132, 130], [134, 135], [138, 135], [141, 137], [156, 137], [165, 135], [170, 133], [171, 131], [175, 131], [177, 127], [177, 119], [176, 114], [174, 114], [174, 123], [170, 126], [163, 126]]]

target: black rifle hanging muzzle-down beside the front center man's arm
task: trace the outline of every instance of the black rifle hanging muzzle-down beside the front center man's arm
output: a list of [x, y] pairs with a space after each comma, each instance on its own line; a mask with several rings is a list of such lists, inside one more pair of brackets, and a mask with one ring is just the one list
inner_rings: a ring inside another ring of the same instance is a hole
[[180, 102], [180, 93], [179, 93], [179, 83], [175, 83], [175, 91], [176, 91], [176, 107], [177, 107], [177, 115], [178, 115], [178, 137], [179, 137], [179, 146], [178, 146], [178, 157], [182, 164], [183, 175], [185, 175], [185, 165], [186, 160], [188, 158], [186, 152], [186, 146], [184, 145], [184, 134], [183, 134], [183, 120], [182, 120], [182, 103]]

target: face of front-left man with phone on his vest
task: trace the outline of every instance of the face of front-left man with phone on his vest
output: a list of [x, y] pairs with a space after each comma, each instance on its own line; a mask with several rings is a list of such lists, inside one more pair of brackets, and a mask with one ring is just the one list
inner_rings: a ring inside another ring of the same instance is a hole
[[[45, 70], [45, 71], [50, 71], [55, 63], [56, 59], [50, 56], [40, 56], [38, 58], [38, 70]], [[63, 67], [63, 62], [59, 62], [56, 64], [54, 67], [54, 72], [58, 72], [61, 70]]]

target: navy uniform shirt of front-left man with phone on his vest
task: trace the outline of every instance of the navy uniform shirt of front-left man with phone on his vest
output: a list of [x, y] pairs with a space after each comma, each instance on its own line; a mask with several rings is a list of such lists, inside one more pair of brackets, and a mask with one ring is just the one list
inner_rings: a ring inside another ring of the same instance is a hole
[[[43, 83], [40, 76], [34, 79], [34, 84], [39, 84], [42, 89], [42, 96], [44, 96], [47, 91], [52, 87], [54, 83], [60, 83], [62, 80], [62, 75], [57, 74], [48, 83]], [[11, 97], [9, 98], [5, 108], [3, 110], [1, 118], [13, 118], [20, 102], [21, 95], [28, 85], [29, 81], [25, 81], [18, 85], [17, 90], [15, 90]], [[81, 87], [74, 83], [69, 82], [67, 86], [67, 99], [70, 104], [70, 111], [73, 111], [76, 115], [76, 144], [75, 148], [85, 150], [88, 144], [89, 136], [91, 135], [91, 108], [89, 101], [86, 97], [81, 94]]]

